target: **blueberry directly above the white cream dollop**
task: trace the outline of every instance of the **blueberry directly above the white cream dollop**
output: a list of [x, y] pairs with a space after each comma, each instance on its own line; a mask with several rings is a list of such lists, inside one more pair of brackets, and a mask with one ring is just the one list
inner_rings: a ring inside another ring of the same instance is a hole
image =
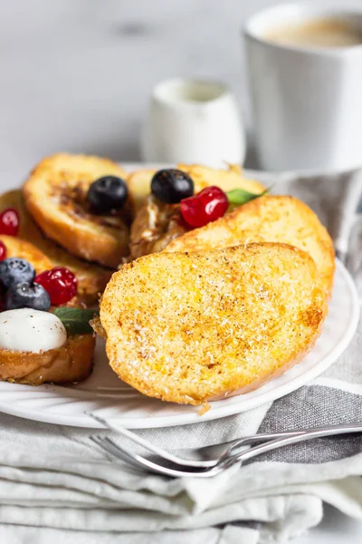
[[33, 308], [33, 310], [48, 311], [51, 307], [51, 297], [40, 284], [13, 284], [5, 293], [4, 309]]

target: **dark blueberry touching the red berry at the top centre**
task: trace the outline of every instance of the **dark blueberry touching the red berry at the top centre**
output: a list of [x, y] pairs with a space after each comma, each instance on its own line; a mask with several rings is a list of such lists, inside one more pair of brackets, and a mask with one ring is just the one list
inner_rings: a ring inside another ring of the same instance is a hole
[[151, 191], [158, 200], [176, 204], [194, 194], [194, 181], [182, 170], [158, 170], [152, 178]]

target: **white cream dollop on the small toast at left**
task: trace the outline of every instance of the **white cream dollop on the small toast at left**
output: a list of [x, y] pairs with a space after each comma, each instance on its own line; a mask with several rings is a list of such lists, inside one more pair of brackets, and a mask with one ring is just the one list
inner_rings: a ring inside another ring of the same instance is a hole
[[40, 354], [66, 341], [62, 321], [50, 312], [21, 308], [0, 314], [0, 349]]

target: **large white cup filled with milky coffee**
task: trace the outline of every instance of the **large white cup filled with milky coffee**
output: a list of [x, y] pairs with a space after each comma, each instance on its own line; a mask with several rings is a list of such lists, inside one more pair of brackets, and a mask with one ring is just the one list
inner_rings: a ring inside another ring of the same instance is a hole
[[348, 170], [362, 165], [362, 45], [277, 44], [278, 24], [320, 17], [352, 20], [362, 11], [297, 3], [276, 5], [245, 24], [254, 130], [265, 170]]

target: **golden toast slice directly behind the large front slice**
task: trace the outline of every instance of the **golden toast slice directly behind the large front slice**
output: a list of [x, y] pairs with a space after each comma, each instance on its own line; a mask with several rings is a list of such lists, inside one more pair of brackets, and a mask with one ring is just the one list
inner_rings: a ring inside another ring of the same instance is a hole
[[205, 251], [251, 242], [282, 242], [303, 249], [317, 265], [330, 293], [335, 269], [333, 242], [316, 214], [287, 196], [254, 199], [205, 227], [172, 241], [165, 251]]

